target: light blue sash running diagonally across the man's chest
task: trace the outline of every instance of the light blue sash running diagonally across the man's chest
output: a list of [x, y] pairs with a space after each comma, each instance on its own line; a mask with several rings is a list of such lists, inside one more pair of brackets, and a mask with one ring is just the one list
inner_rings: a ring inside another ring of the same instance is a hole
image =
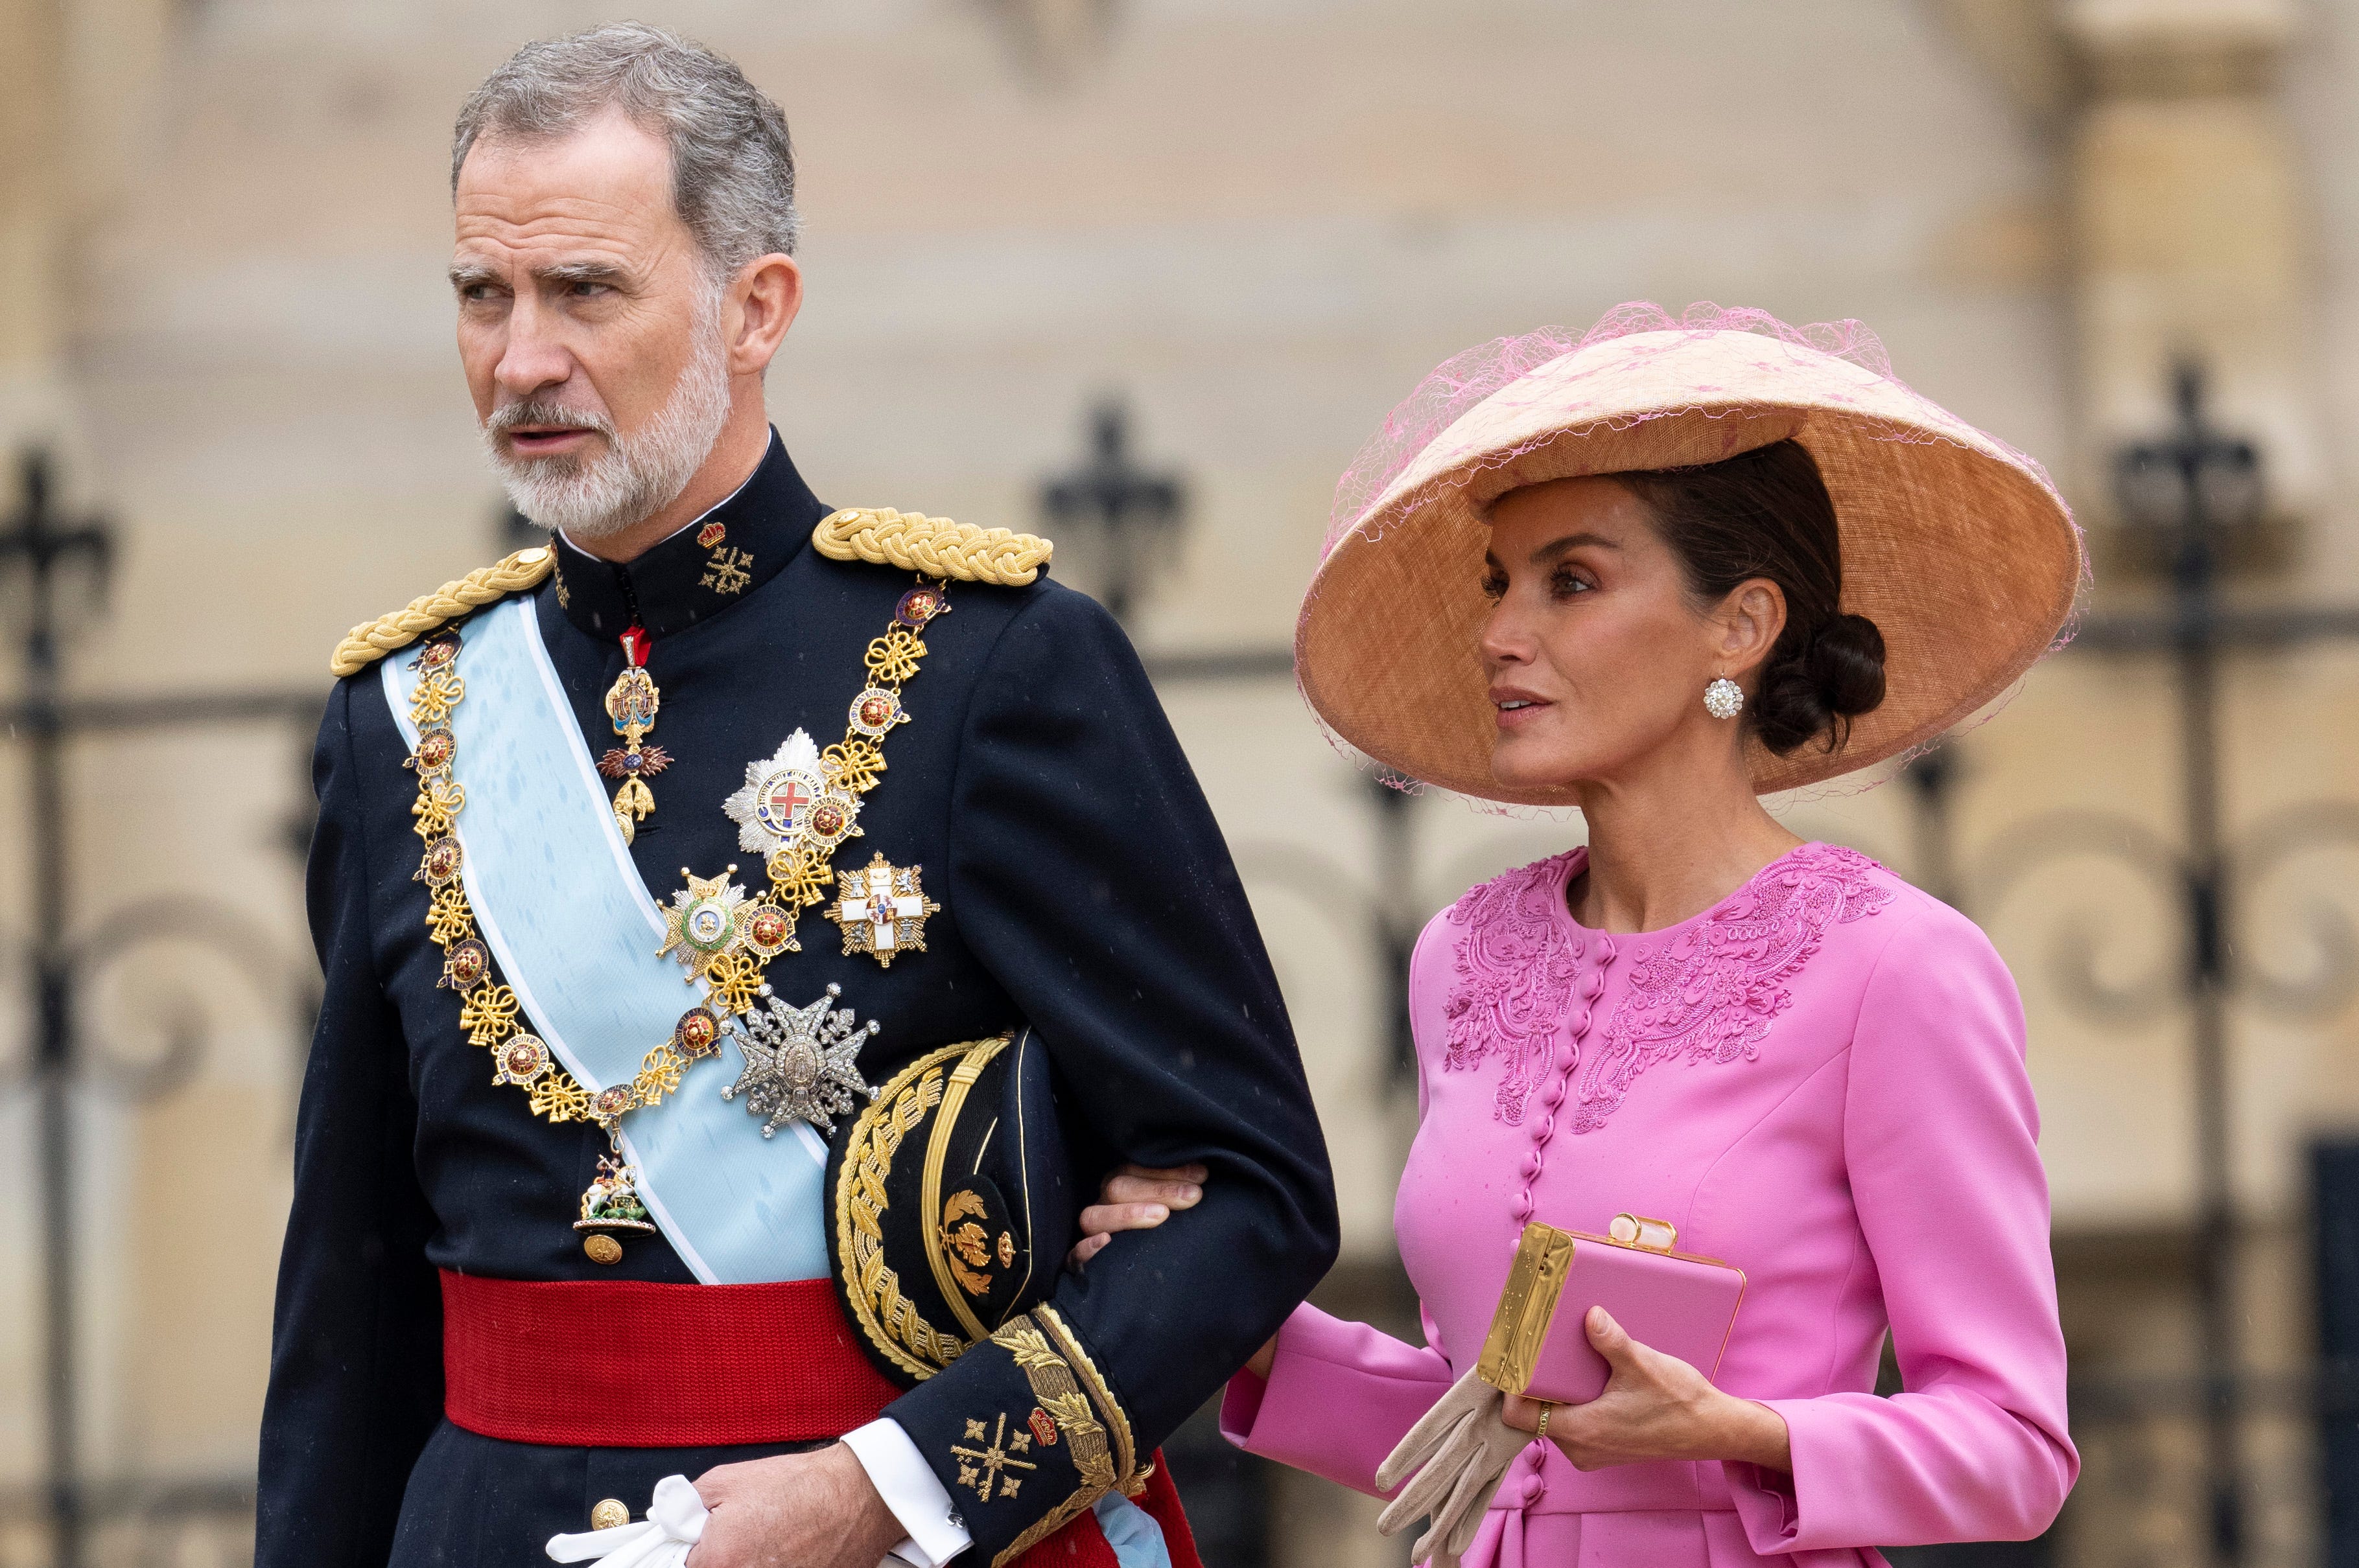
[[[477, 615], [460, 639], [467, 698], [451, 714], [451, 736], [453, 776], [467, 788], [458, 839], [474, 924], [533, 1030], [597, 1094], [630, 1082], [703, 990], [656, 957], [663, 915], [613, 825], [531, 601]], [[408, 653], [385, 660], [385, 700], [415, 750], [418, 674], [408, 663]], [[828, 1148], [804, 1122], [764, 1139], [743, 1103], [722, 1101], [741, 1066], [724, 1045], [689, 1066], [663, 1106], [625, 1118], [623, 1153], [639, 1167], [639, 1198], [705, 1285], [826, 1278]]]

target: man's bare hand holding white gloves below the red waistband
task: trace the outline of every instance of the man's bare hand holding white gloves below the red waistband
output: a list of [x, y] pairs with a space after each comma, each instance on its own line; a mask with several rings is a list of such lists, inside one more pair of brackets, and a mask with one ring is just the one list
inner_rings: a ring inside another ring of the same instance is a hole
[[842, 1443], [719, 1464], [696, 1495], [712, 1518], [686, 1568], [878, 1568], [908, 1535]]

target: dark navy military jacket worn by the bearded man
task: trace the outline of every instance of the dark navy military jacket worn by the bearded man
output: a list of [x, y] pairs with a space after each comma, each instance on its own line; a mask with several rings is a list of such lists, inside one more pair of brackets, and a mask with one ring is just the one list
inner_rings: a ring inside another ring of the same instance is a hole
[[[861, 651], [915, 585], [821, 556], [809, 545], [821, 516], [774, 436], [705, 519], [724, 523], [722, 540], [686, 528], [627, 566], [559, 545], [557, 575], [533, 594], [592, 755], [616, 745], [602, 698], [623, 670], [620, 632], [653, 634], [663, 712], [649, 743], [675, 762], [651, 780], [658, 806], [630, 854], [661, 905], [682, 865], [712, 875], [736, 861], [738, 879], [762, 887], [722, 799], [793, 729], [842, 738], [866, 684]], [[1050, 1304], [1076, 1342], [1052, 1349], [1118, 1403], [1144, 1460], [1333, 1261], [1326, 1151], [1246, 896], [1121, 630], [1045, 578], [953, 582], [951, 604], [903, 686], [913, 722], [885, 740], [885, 778], [861, 802], [866, 837], [837, 854], [840, 868], [875, 851], [925, 868], [941, 903], [927, 950], [880, 969], [840, 955], [823, 910], [807, 910], [802, 953], [781, 955], [769, 981], [797, 1004], [835, 981], [882, 1023], [859, 1063], [870, 1085], [929, 1047], [1036, 1026], [1090, 1146], [1090, 1188], [1116, 1160], [1210, 1167], [1196, 1210], [1116, 1238]], [[326, 1004], [295, 1137], [257, 1568], [517, 1568], [543, 1561], [550, 1535], [590, 1528], [602, 1497], [637, 1511], [668, 1474], [786, 1448], [545, 1448], [441, 1419], [439, 1269], [694, 1276], [661, 1236], [630, 1240], [606, 1269], [583, 1254], [571, 1221], [606, 1137], [535, 1120], [467, 1045], [413, 879], [406, 757], [377, 667], [340, 681], [314, 759], [309, 905]], [[1026, 1370], [986, 1342], [887, 1408], [958, 1502], [974, 1537], [960, 1561], [977, 1568], [1085, 1502], [1045, 1448], [1047, 1469], [1014, 1497], [960, 1485], [951, 1448], [967, 1422], [1021, 1422], [1036, 1403]]]

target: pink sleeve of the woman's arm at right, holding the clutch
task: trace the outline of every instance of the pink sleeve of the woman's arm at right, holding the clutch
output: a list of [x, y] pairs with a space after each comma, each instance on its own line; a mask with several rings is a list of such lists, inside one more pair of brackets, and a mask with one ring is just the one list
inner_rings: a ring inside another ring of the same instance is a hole
[[2064, 1339], [2024, 1014], [1989, 941], [1927, 905], [1861, 997], [1842, 1113], [1868, 1259], [1852, 1302], [1892, 1323], [1906, 1394], [1765, 1401], [1793, 1476], [1729, 1464], [1755, 1551], [2029, 1540], [2081, 1460], [2064, 1429]]

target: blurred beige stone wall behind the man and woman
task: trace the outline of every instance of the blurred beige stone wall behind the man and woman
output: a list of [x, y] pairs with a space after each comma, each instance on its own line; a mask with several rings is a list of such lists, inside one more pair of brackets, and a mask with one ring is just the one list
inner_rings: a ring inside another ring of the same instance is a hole
[[[1413, 1332], [1401, 943], [1581, 837], [1375, 790], [1295, 698], [1359, 441], [1474, 342], [1717, 299], [1864, 318], [2048, 462], [2097, 556], [2083, 644], [1939, 766], [1781, 806], [1982, 920], [2031, 1014], [2088, 1474], [2048, 1540], [1949, 1561], [2359, 1561], [2359, 1297], [2319, 1240], [2359, 1207], [2359, 0], [0, 0], [0, 450], [52, 465], [38, 507], [0, 493], [0, 1563], [52, 1561], [50, 1188], [90, 1561], [250, 1549], [326, 655], [512, 547], [451, 349], [451, 116], [616, 14], [788, 111], [809, 304], [769, 391], [821, 498], [1047, 531], [1123, 601], [1288, 988], [1335, 1311]], [[2182, 363], [2265, 481], [2227, 462], [2215, 507], [2236, 646], [2192, 879], [2177, 514], [2116, 498]], [[1043, 521], [1085, 472], [1139, 505]], [[33, 545], [90, 523], [106, 571]], [[64, 707], [28, 703], [35, 556]], [[2210, 979], [2189, 889], [2225, 894]], [[78, 1047], [47, 1075], [42, 974]], [[1401, 1559], [1366, 1500], [1175, 1452], [1222, 1568]]]

